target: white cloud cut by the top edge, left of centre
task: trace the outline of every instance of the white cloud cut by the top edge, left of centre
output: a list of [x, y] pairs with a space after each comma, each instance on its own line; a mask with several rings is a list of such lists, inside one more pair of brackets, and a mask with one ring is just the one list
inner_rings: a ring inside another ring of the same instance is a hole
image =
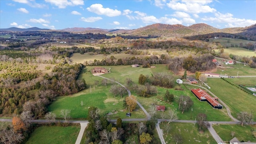
[[49, 2], [58, 8], [66, 8], [67, 6], [78, 6], [84, 5], [83, 0], [45, 0], [45, 2]]

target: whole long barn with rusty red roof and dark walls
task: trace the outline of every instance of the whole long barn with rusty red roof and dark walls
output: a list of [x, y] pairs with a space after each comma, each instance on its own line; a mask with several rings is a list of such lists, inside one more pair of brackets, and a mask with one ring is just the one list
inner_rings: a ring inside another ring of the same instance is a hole
[[204, 90], [198, 88], [198, 89], [192, 89], [191, 92], [200, 100], [201, 102], [208, 102], [210, 106], [212, 106], [215, 109], [222, 109], [223, 106], [217, 101], [218, 98], [213, 98], [210, 96], [207, 92]]

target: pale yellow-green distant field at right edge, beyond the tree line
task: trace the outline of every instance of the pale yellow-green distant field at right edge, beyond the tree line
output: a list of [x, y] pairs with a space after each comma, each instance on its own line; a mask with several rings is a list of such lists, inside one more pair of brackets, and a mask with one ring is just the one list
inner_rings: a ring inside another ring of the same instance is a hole
[[248, 49], [245, 49], [245, 48], [233, 48], [233, 47], [225, 48], [224, 53], [233, 54], [233, 55], [236, 55], [236, 56], [248, 56], [248, 57], [256, 56], [255, 51], [248, 50]]

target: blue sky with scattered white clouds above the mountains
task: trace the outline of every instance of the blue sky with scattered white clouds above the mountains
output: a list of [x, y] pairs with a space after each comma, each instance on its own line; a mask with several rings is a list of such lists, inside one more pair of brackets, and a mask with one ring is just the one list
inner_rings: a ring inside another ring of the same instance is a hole
[[150, 24], [256, 24], [256, 0], [0, 0], [0, 28], [136, 29]]

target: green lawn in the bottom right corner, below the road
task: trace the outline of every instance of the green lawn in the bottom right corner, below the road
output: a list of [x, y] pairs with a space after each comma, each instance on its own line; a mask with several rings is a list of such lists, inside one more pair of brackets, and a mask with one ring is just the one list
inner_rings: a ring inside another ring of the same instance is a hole
[[256, 142], [256, 132], [251, 132], [252, 129], [256, 129], [256, 126], [247, 125], [243, 127], [237, 124], [218, 124], [212, 125], [212, 127], [224, 141], [230, 141], [233, 138], [231, 132], [235, 132], [234, 137], [240, 141], [244, 140], [247, 142], [250, 140], [251, 142]]

